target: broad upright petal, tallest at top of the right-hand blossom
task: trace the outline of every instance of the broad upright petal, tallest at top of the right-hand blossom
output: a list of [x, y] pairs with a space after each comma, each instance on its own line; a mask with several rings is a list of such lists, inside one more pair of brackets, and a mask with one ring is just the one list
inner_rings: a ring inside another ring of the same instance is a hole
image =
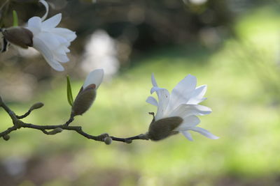
[[167, 110], [172, 111], [180, 104], [187, 103], [188, 100], [190, 100], [193, 91], [195, 91], [196, 84], [197, 79], [193, 75], [188, 75], [182, 79], [172, 90]]

